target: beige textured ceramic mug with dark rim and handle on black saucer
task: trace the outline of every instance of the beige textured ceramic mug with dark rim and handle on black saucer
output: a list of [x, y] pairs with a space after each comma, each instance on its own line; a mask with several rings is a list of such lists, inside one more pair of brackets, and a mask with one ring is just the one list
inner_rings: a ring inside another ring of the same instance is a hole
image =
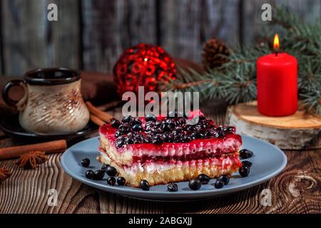
[[[12, 86], [24, 88], [16, 101], [9, 97]], [[38, 134], [75, 133], [89, 121], [89, 111], [81, 96], [78, 71], [67, 68], [39, 68], [24, 74], [24, 81], [6, 83], [4, 101], [19, 110], [22, 128]]]

